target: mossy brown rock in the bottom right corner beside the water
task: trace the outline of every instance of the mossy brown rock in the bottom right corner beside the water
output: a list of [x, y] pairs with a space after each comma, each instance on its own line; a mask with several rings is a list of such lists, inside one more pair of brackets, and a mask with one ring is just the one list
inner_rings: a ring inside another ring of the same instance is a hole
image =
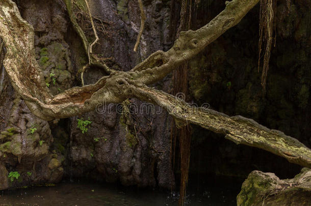
[[238, 205], [310, 205], [311, 171], [303, 168], [293, 179], [280, 180], [274, 173], [252, 171], [237, 197]]

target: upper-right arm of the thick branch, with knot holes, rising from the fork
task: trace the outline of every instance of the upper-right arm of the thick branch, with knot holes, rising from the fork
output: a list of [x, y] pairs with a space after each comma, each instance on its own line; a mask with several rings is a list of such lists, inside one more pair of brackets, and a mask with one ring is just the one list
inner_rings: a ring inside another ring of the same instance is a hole
[[[142, 71], [140, 80], [145, 84], [159, 81], [207, 45], [215, 41], [230, 27], [235, 26], [259, 0], [233, 0], [212, 21], [196, 31], [180, 32], [179, 38], [167, 52], [157, 51], [132, 71]], [[145, 71], [146, 70], [146, 71]]]

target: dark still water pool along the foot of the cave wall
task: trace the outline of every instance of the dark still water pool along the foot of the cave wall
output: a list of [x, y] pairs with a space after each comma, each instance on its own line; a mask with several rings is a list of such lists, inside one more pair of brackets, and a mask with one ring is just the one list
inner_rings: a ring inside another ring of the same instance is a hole
[[[235, 189], [209, 188], [188, 192], [186, 205], [236, 205]], [[94, 183], [60, 183], [0, 192], [0, 205], [177, 205], [178, 193]]]

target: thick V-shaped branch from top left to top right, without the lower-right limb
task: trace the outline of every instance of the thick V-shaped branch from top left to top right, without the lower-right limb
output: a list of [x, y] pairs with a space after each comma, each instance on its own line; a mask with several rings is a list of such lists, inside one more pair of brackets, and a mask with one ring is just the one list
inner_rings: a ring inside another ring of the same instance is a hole
[[[131, 72], [127, 74], [113, 72], [109, 77], [102, 77], [95, 84], [74, 87], [51, 97], [41, 69], [35, 60], [33, 28], [20, 17], [15, 3], [4, 0], [0, 3], [0, 36], [7, 46], [5, 68], [14, 89], [26, 101], [31, 111], [40, 118], [51, 120], [82, 114], [93, 110], [99, 101], [109, 103], [123, 100], [124, 96], [120, 95], [120, 91], [114, 94], [116, 86], [113, 85], [115, 83], [112, 80], [131, 76], [137, 82], [150, 84], [164, 78], [177, 65], [189, 60], [228, 28], [236, 25], [257, 2], [258, 0], [234, 0], [227, 3], [226, 9], [209, 24], [197, 31], [180, 33], [172, 49], [151, 54]], [[70, 20], [82, 38], [85, 50], [88, 51], [88, 41], [76, 23], [72, 3], [70, 0], [65, 0], [65, 4]], [[110, 86], [106, 85], [108, 78]]]

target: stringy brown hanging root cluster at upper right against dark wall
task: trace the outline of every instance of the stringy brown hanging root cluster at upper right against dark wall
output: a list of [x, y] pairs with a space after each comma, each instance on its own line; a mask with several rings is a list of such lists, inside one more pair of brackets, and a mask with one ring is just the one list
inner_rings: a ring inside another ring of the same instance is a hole
[[275, 6], [273, 0], [261, 0], [260, 2], [260, 28], [259, 28], [259, 42], [258, 42], [258, 72], [260, 70], [262, 48], [264, 47], [263, 73], [261, 84], [263, 87], [263, 94], [266, 93], [266, 81], [269, 70], [270, 53], [272, 46], [272, 31], [273, 31], [273, 9]]

